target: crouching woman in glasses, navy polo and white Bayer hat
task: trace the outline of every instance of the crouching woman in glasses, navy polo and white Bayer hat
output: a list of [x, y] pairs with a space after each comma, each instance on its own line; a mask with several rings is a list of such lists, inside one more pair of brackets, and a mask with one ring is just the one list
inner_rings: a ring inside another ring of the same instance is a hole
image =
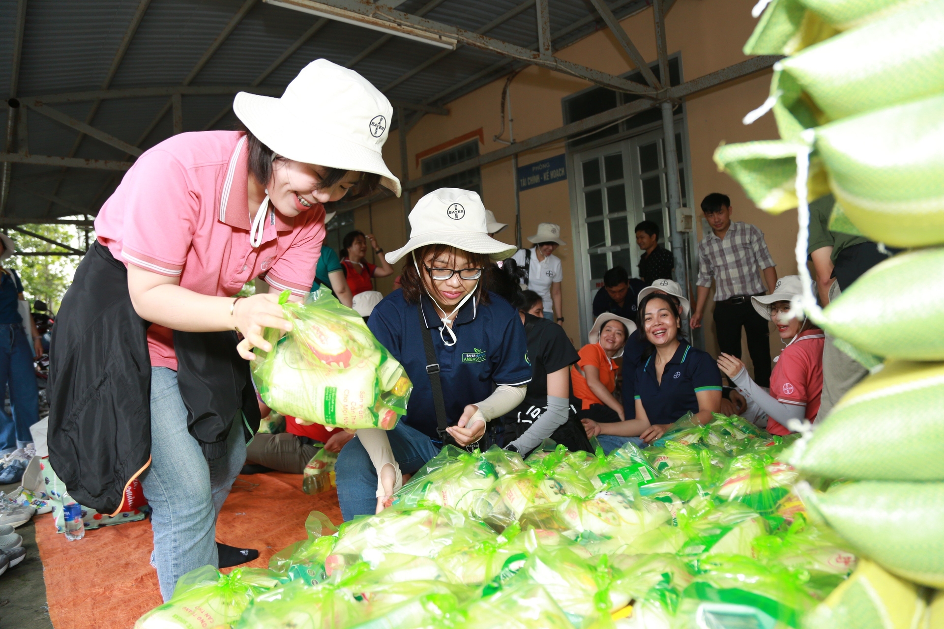
[[490, 238], [485, 224], [478, 194], [434, 190], [410, 212], [410, 241], [387, 254], [392, 264], [409, 255], [402, 289], [374, 308], [368, 326], [403, 365], [413, 393], [394, 430], [359, 430], [338, 456], [338, 502], [346, 521], [379, 511], [398, 489], [400, 472], [416, 472], [443, 445], [421, 325], [439, 366], [446, 432], [456, 443], [475, 443], [486, 422], [525, 397], [531, 365], [524, 326], [508, 302], [487, 290], [491, 261], [511, 257], [515, 248]]

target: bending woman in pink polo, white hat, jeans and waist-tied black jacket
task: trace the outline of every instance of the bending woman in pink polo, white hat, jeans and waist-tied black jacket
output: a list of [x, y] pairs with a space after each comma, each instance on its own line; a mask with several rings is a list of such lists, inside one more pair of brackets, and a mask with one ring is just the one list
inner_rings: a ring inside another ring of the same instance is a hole
[[[164, 600], [187, 571], [258, 556], [215, 542], [215, 521], [258, 425], [251, 349], [291, 329], [278, 292], [310, 290], [322, 204], [400, 192], [380, 152], [393, 109], [360, 74], [318, 59], [281, 98], [241, 92], [233, 110], [247, 131], [177, 135], [127, 172], [50, 351], [50, 462], [99, 511], [140, 478]], [[256, 277], [272, 292], [232, 297]]]

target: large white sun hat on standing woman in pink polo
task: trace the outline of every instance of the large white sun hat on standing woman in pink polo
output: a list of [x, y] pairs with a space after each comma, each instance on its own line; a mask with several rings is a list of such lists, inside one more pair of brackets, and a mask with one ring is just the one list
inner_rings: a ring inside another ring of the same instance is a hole
[[380, 183], [400, 195], [400, 181], [381, 154], [394, 108], [361, 74], [316, 59], [292, 79], [281, 98], [241, 91], [233, 111], [276, 154], [379, 174]]

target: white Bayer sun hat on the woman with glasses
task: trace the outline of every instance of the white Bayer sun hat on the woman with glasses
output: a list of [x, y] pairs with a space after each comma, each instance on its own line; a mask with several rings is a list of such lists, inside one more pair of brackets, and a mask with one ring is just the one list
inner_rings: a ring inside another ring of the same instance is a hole
[[488, 235], [487, 210], [472, 190], [440, 188], [416, 203], [410, 212], [410, 240], [386, 255], [396, 263], [414, 249], [427, 244], [447, 244], [474, 254], [488, 254], [493, 260], [514, 256], [514, 245]]

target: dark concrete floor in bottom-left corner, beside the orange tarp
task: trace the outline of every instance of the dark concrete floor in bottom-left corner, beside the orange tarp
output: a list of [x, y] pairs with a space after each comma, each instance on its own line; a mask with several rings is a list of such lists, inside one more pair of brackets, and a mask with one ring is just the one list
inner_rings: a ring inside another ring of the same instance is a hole
[[[17, 487], [19, 485], [0, 485], [0, 491], [11, 491]], [[46, 607], [46, 584], [42, 580], [36, 526], [28, 522], [16, 532], [23, 537], [26, 556], [20, 565], [8, 568], [0, 575], [0, 628], [53, 629]]]

